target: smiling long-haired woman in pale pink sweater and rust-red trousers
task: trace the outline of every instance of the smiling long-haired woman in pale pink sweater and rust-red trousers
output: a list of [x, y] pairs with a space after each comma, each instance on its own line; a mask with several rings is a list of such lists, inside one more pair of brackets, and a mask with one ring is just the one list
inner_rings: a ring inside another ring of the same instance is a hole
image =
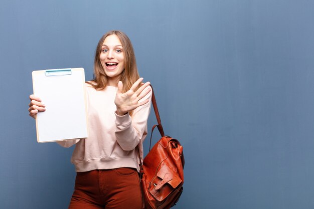
[[[151, 88], [149, 82], [141, 83], [124, 33], [109, 31], [99, 40], [94, 77], [86, 83], [88, 138], [58, 142], [76, 145], [71, 162], [77, 175], [69, 208], [142, 208], [136, 146], [142, 158]], [[30, 116], [35, 118], [45, 105], [34, 95], [30, 99]]]

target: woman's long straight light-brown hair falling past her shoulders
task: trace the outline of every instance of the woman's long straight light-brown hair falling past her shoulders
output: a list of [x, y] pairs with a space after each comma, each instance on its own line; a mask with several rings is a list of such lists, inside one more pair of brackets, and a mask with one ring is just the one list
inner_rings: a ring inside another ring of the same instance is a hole
[[108, 76], [105, 74], [99, 56], [101, 53], [101, 46], [104, 40], [110, 35], [116, 35], [122, 44], [125, 64], [124, 70], [121, 73], [120, 80], [123, 83], [122, 93], [125, 93], [131, 88], [133, 83], [139, 79], [139, 75], [136, 67], [136, 60], [132, 43], [130, 39], [126, 36], [126, 34], [121, 31], [109, 31], [104, 34], [99, 40], [94, 59], [94, 79], [88, 83], [92, 85], [96, 90], [102, 90], [107, 86]]

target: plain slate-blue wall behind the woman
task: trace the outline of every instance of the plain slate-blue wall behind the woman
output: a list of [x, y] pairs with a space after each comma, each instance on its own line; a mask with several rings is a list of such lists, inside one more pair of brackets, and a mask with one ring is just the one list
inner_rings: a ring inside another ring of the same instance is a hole
[[184, 145], [176, 208], [314, 208], [313, 8], [305, 0], [3, 0], [0, 207], [67, 208], [73, 148], [37, 143], [31, 72], [83, 67], [90, 80], [99, 38], [118, 29], [155, 88], [166, 133]]

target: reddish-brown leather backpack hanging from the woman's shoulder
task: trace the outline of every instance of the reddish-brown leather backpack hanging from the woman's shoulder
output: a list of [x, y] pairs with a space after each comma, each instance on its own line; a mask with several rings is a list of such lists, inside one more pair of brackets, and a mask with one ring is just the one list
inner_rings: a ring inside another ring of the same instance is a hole
[[174, 206], [183, 191], [183, 147], [177, 139], [165, 136], [154, 93], [151, 99], [162, 138], [140, 160], [140, 182], [146, 209], [168, 209]]

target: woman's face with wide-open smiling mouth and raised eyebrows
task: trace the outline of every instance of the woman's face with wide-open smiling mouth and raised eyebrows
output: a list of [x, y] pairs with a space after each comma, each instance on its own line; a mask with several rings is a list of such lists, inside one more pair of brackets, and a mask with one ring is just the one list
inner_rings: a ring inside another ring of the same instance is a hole
[[116, 84], [124, 70], [124, 52], [116, 35], [106, 37], [101, 46], [99, 59], [109, 82], [113, 81]]

